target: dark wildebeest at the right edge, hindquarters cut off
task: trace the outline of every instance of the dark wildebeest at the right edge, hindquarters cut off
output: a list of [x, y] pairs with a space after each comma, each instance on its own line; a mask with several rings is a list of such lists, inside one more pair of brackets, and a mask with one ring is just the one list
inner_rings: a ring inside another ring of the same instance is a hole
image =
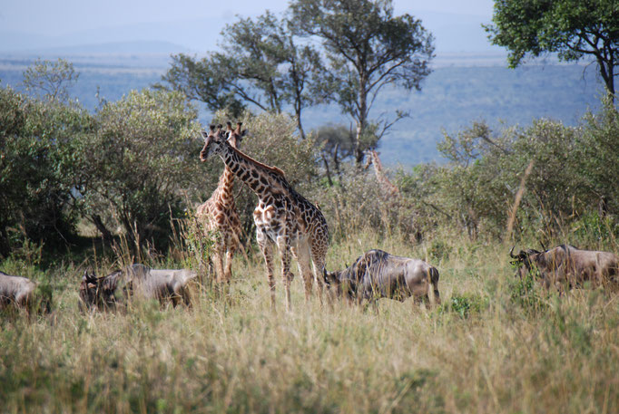
[[559, 292], [563, 286], [581, 287], [588, 282], [592, 287], [616, 288], [619, 284], [619, 257], [614, 253], [580, 250], [575, 246], [560, 245], [543, 252], [535, 249], [521, 250], [509, 255], [512, 263], [520, 265], [517, 275], [521, 278], [535, 269], [546, 289], [555, 286]]

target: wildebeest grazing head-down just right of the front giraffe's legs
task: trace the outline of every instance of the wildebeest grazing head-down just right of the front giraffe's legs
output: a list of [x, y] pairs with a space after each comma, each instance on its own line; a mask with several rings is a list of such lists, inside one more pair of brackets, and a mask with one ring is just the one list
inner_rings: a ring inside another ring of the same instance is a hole
[[376, 302], [381, 297], [404, 301], [410, 296], [417, 303], [440, 303], [436, 267], [382, 250], [369, 250], [339, 272], [325, 271], [324, 279], [329, 287], [335, 286], [338, 295], [354, 297], [358, 303], [364, 299]]

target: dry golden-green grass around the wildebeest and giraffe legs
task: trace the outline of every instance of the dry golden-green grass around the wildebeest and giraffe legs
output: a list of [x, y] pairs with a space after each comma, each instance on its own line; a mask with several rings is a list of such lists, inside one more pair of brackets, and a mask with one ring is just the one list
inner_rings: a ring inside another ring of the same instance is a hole
[[[9, 413], [619, 411], [616, 295], [580, 290], [557, 297], [534, 284], [535, 301], [529, 300], [532, 291], [515, 286], [508, 248], [441, 240], [449, 254], [439, 257], [436, 243], [410, 246], [366, 232], [331, 246], [328, 256], [329, 270], [373, 247], [428, 259], [439, 270], [443, 298], [432, 311], [412, 301], [381, 300], [378, 313], [339, 302], [320, 307], [316, 298], [304, 303], [297, 274], [292, 313], [284, 311], [279, 278], [278, 312], [271, 313], [260, 256], [245, 262], [239, 255], [227, 298], [195, 287], [192, 309], [134, 302], [126, 312], [80, 313], [77, 285], [87, 264], [57, 265], [43, 274], [54, 289], [54, 313], [1, 320], [0, 407]], [[111, 270], [104, 263], [102, 273]], [[33, 266], [22, 270], [39, 274]]]

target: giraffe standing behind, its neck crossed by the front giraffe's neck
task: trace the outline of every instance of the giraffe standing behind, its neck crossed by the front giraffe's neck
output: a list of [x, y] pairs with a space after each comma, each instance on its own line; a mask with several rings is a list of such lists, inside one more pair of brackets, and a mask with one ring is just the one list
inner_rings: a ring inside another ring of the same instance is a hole
[[[242, 123], [238, 122], [236, 129], [232, 130], [231, 122], [227, 123], [228, 142], [230, 142], [233, 148], [237, 148], [245, 135], [245, 130], [241, 131], [241, 125]], [[217, 132], [221, 133], [221, 128]], [[211, 130], [211, 133], [214, 132]], [[234, 204], [233, 187], [234, 174], [226, 166], [221, 173], [217, 188], [212, 192], [211, 198], [206, 200], [196, 210], [196, 217], [203, 226], [205, 233], [215, 231], [218, 234], [214, 241], [212, 253], [218, 283], [230, 283], [232, 257], [241, 245], [241, 218], [239, 218], [239, 212]]]

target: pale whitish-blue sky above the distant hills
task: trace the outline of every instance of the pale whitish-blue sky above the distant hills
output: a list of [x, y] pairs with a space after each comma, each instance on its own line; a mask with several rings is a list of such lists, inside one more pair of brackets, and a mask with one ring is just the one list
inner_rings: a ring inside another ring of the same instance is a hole
[[[463, 18], [477, 16], [485, 23], [489, 22], [494, 5], [492, 0], [394, 0], [393, 3], [396, 14], [413, 14], [422, 21], [424, 16], [431, 19], [432, 15], [436, 18], [437, 13], [448, 13], [460, 14]], [[0, 33], [61, 37], [109, 29], [111, 41], [117, 42], [114, 28], [136, 26], [139, 30], [143, 25], [148, 31], [152, 25], [146, 24], [171, 24], [168, 27], [178, 29], [172, 29], [175, 30], [172, 35], [164, 32], [164, 37], [192, 47], [193, 37], [199, 33], [196, 28], [187, 27], [192, 22], [210, 22], [195, 24], [217, 25], [216, 31], [214, 27], [201, 29], [208, 34], [219, 33], [236, 14], [256, 16], [266, 9], [279, 13], [287, 6], [287, 1], [278, 0], [0, 0]], [[139, 35], [125, 32], [131, 37]], [[152, 37], [152, 34], [144, 34], [144, 37]], [[75, 42], [79, 42], [79, 38]]]

